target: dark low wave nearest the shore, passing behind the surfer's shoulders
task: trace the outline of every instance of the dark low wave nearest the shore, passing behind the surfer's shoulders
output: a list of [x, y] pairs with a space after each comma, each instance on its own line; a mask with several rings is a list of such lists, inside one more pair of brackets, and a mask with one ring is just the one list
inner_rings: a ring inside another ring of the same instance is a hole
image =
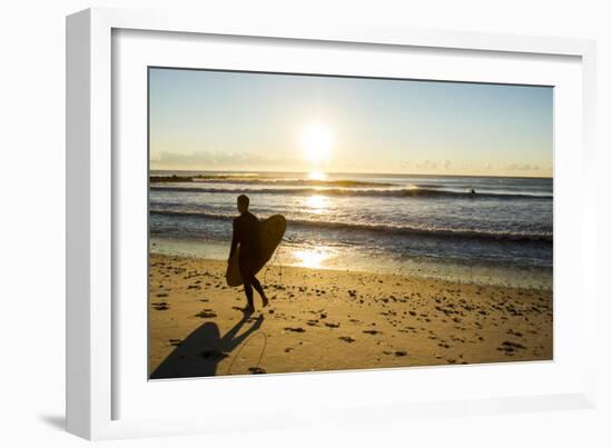
[[[151, 215], [175, 216], [175, 217], [194, 217], [206, 218], [214, 220], [231, 220], [234, 216], [224, 213], [210, 213], [206, 211], [176, 211], [176, 210], [150, 210]], [[339, 222], [339, 221], [314, 221], [307, 219], [288, 219], [289, 226], [306, 227], [315, 229], [332, 229], [332, 230], [362, 230], [372, 232], [382, 232], [387, 235], [405, 235], [405, 236], [430, 236], [440, 238], [457, 238], [457, 239], [484, 239], [500, 241], [542, 241], [552, 242], [553, 236], [550, 232], [511, 232], [511, 231], [487, 231], [487, 230], [470, 230], [470, 229], [432, 229], [419, 228], [413, 226], [394, 226], [394, 225], [377, 225], [362, 222]]]

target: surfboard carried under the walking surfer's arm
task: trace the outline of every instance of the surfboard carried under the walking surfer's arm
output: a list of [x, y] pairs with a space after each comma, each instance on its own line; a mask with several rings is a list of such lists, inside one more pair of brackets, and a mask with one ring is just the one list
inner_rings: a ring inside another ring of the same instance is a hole
[[[259, 241], [261, 245], [261, 252], [255, 263], [255, 273], [259, 272], [264, 266], [269, 261], [274, 251], [280, 243], [285, 230], [287, 229], [287, 220], [283, 215], [273, 215], [268, 219], [259, 221]], [[234, 252], [227, 265], [225, 272], [225, 279], [227, 286], [240, 286], [243, 285], [243, 276], [240, 276], [240, 268], [238, 267], [238, 257], [240, 256], [240, 247]]]

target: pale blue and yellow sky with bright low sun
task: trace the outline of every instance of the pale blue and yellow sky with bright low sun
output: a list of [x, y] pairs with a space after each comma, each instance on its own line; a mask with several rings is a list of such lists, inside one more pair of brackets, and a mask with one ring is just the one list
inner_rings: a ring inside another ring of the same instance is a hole
[[551, 177], [550, 87], [149, 69], [154, 170]]

